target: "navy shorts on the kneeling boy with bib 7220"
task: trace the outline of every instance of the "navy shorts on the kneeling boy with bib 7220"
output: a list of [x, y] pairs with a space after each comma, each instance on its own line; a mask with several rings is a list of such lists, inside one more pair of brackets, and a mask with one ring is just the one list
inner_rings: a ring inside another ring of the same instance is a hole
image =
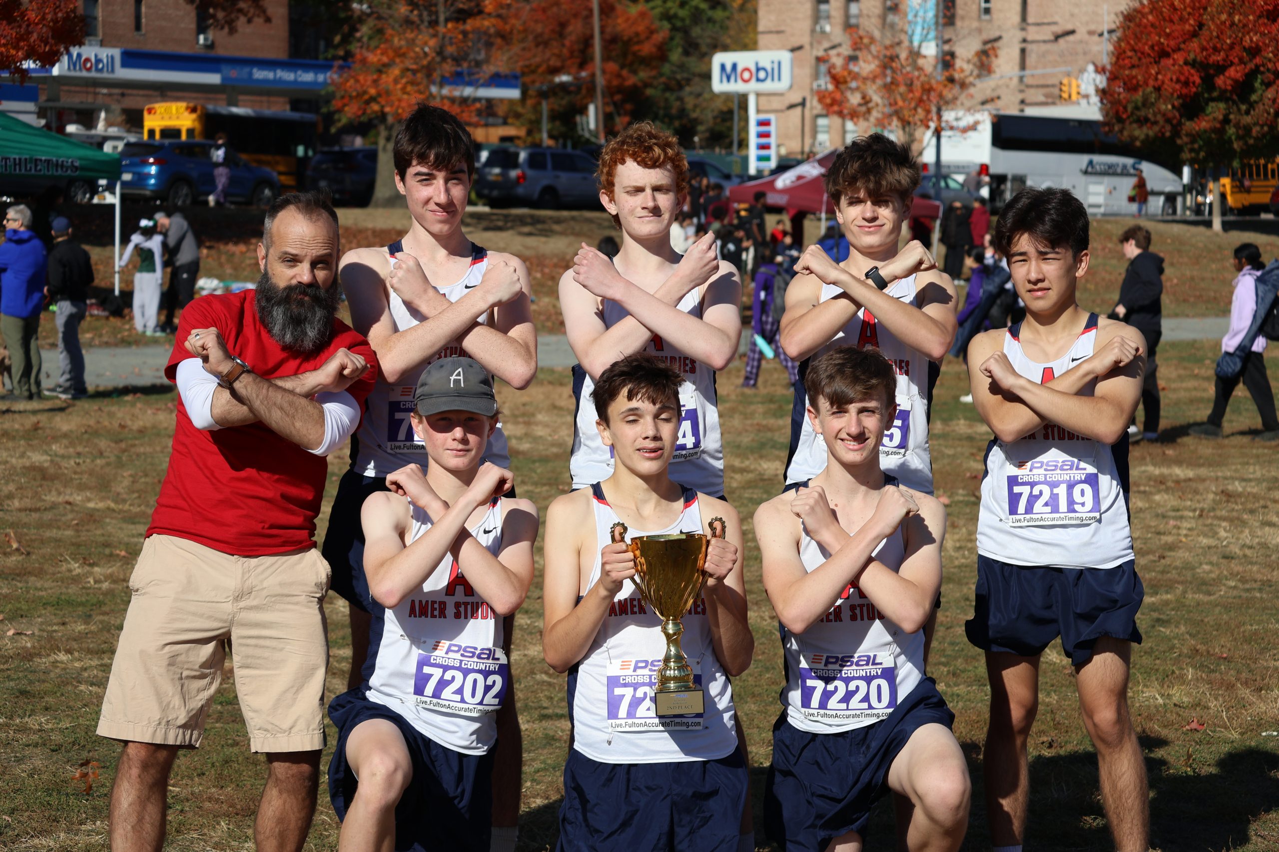
[[840, 733], [773, 726], [773, 765], [764, 788], [764, 826], [781, 852], [820, 852], [836, 837], [866, 838], [871, 806], [888, 792], [888, 772], [911, 734], [926, 724], [948, 729], [955, 714], [926, 677], [874, 724]]

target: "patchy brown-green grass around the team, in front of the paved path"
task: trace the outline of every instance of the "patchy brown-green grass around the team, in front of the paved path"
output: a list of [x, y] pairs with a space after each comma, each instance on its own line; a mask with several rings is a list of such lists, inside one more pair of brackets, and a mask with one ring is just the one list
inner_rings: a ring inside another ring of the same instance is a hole
[[[1276, 456], [1274, 445], [1248, 437], [1260, 423], [1242, 388], [1225, 439], [1184, 437], [1184, 424], [1201, 420], [1211, 401], [1215, 354], [1212, 342], [1161, 347], [1169, 425], [1164, 441], [1137, 445], [1132, 453], [1146, 641], [1134, 653], [1131, 692], [1150, 772], [1155, 844], [1165, 852], [1269, 852], [1279, 849], [1279, 736], [1265, 736], [1279, 731]], [[765, 365], [760, 391], [741, 390], [741, 378], [738, 361], [719, 387], [728, 494], [749, 526], [753, 507], [781, 483], [789, 393], [776, 364]], [[569, 387], [568, 370], [542, 370], [530, 392], [501, 390], [521, 494], [544, 511], [568, 489]], [[964, 388], [962, 365], [948, 360], [932, 415], [936, 484], [950, 512], [932, 673], [955, 710], [955, 733], [972, 768], [976, 806], [966, 848], [978, 851], [989, 848], [980, 805], [987, 690], [981, 654], [964, 640], [963, 621], [972, 612], [977, 485], [989, 432], [972, 406], [955, 401]], [[118, 746], [93, 731], [129, 599], [127, 580], [165, 471], [174, 399], [166, 390], [146, 388], [74, 404], [0, 406], [6, 464], [0, 534], [12, 531], [26, 551], [0, 540], [0, 848], [105, 846]], [[329, 501], [344, 466], [344, 453], [335, 453]], [[320, 530], [325, 524], [321, 517]], [[781, 654], [749, 529], [747, 542], [757, 645], [734, 694], [749, 736], [758, 814]], [[540, 577], [540, 551], [537, 562]], [[341, 688], [349, 660], [344, 605], [333, 597], [327, 603], [329, 695]], [[540, 626], [538, 579], [517, 620], [513, 659], [526, 743], [522, 849], [554, 844], [568, 740], [564, 677], [541, 659]], [[10, 630], [15, 632], [4, 635]], [[225, 674], [203, 747], [182, 755], [174, 773], [171, 849], [252, 846], [265, 772], [247, 749], [234, 673], [228, 667]], [[1192, 719], [1204, 729], [1188, 729]], [[1031, 747], [1027, 848], [1110, 848], [1095, 759], [1071, 668], [1056, 645], [1045, 654]], [[98, 765], [88, 791], [75, 778], [84, 761]], [[320, 798], [307, 848], [333, 849], [338, 823], [322, 788]], [[889, 820], [881, 805], [870, 848], [891, 847]]]

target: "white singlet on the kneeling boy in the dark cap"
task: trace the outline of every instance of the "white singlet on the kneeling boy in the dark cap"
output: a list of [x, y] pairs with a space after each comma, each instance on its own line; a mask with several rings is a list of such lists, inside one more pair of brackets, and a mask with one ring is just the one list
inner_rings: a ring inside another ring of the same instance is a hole
[[[409, 506], [412, 543], [431, 529], [431, 516]], [[501, 552], [501, 521], [496, 498], [471, 530], [494, 556]], [[372, 603], [368, 700], [391, 708], [441, 746], [486, 754], [498, 741], [496, 711], [510, 686], [503, 616], [476, 594], [450, 554], [398, 607]]]

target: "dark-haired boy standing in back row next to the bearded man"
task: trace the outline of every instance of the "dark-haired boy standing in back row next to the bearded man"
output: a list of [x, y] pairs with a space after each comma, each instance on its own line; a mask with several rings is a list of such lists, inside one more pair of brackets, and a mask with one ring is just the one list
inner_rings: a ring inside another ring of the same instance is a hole
[[[368, 337], [381, 365], [324, 544], [333, 589], [350, 604], [352, 688], [362, 680], [370, 626], [359, 507], [386, 489], [388, 474], [411, 462], [427, 464], [411, 423], [418, 377], [430, 363], [459, 355], [515, 388], [527, 387], [537, 373], [528, 270], [513, 254], [476, 245], [462, 230], [475, 176], [471, 134], [446, 110], [420, 106], [395, 134], [394, 157], [409, 230], [388, 247], [352, 249], [340, 264], [352, 324]], [[501, 424], [489, 438], [485, 461], [510, 468]], [[498, 724], [494, 820], [501, 830], [494, 834], [495, 849], [514, 848], [519, 812], [521, 737], [513, 694]]]

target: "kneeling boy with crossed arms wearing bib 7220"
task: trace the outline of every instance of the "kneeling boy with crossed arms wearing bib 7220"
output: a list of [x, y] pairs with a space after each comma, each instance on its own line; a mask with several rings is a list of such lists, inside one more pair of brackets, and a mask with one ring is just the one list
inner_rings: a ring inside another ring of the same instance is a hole
[[806, 383], [828, 464], [755, 513], [788, 676], [765, 825], [788, 852], [861, 849], [891, 789], [912, 805], [907, 848], [953, 851], [971, 783], [954, 714], [923, 673], [946, 512], [880, 468], [897, 387], [883, 355], [835, 349]]

